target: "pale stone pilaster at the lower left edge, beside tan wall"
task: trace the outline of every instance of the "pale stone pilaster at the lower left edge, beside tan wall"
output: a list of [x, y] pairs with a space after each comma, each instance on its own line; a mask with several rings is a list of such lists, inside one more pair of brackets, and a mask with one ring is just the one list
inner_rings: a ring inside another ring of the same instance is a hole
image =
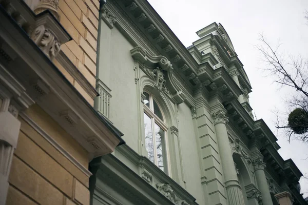
[[21, 127], [17, 115], [18, 110], [10, 105], [10, 99], [3, 99], [0, 104], [0, 205], [6, 203], [11, 162]]

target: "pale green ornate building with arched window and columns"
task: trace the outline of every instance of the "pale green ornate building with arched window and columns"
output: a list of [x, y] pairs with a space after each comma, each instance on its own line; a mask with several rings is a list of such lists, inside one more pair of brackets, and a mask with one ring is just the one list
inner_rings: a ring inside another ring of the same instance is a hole
[[101, 3], [94, 108], [126, 145], [90, 163], [91, 204], [306, 204], [227, 32], [197, 35], [185, 48], [147, 1]]

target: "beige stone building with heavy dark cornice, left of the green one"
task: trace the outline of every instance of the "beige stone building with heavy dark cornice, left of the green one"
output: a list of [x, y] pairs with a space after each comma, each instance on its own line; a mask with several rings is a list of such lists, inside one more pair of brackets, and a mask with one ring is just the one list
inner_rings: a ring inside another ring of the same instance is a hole
[[123, 144], [93, 109], [98, 17], [98, 0], [0, 1], [1, 205], [89, 204], [89, 161]]

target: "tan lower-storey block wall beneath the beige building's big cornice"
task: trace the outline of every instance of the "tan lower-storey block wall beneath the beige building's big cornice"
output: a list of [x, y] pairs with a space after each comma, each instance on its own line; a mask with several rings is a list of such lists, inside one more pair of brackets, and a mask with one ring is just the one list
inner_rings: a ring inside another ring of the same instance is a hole
[[7, 204], [89, 204], [87, 151], [36, 105], [18, 119]]

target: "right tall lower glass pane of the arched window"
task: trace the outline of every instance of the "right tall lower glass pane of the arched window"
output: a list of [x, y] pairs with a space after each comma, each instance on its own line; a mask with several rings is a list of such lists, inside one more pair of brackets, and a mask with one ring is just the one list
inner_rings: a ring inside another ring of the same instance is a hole
[[165, 131], [155, 124], [157, 166], [164, 171], [164, 149], [165, 149]]

